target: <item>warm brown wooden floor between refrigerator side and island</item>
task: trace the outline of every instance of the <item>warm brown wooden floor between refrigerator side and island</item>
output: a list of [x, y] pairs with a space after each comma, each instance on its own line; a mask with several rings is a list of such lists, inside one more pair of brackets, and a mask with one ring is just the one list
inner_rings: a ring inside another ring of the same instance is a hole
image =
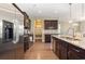
[[49, 43], [41, 41], [34, 44], [25, 53], [25, 60], [58, 60], [55, 53], [51, 50]]

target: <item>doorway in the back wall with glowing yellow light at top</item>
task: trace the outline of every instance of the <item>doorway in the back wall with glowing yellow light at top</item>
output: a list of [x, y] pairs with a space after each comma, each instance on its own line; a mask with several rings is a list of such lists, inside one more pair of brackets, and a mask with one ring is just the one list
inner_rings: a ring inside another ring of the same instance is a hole
[[34, 41], [42, 41], [43, 22], [42, 20], [34, 21]]

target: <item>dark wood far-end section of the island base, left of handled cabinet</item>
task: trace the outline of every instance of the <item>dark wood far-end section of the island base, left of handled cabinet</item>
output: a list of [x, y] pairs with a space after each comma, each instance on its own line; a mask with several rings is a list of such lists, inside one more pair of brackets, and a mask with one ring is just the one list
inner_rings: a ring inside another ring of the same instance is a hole
[[61, 60], [67, 60], [68, 44], [58, 38], [53, 38], [53, 41], [54, 41], [53, 51], [55, 50], [55, 54]]

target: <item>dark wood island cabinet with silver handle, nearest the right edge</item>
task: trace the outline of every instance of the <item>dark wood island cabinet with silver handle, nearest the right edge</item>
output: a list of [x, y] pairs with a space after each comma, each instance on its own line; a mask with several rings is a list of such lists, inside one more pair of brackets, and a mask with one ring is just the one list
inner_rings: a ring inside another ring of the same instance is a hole
[[83, 60], [85, 59], [85, 50], [79, 48], [79, 47], [75, 47], [75, 46], [72, 46], [72, 44], [69, 44], [69, 48], [68, 48], [68, 59], [69, 60]]

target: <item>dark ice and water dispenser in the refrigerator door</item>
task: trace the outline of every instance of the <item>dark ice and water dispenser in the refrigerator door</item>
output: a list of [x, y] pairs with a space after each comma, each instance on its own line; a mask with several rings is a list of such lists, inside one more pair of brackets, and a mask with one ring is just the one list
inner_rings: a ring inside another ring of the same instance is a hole
[[3, 42], [13, 40], [13, 23], [3, 21]]

